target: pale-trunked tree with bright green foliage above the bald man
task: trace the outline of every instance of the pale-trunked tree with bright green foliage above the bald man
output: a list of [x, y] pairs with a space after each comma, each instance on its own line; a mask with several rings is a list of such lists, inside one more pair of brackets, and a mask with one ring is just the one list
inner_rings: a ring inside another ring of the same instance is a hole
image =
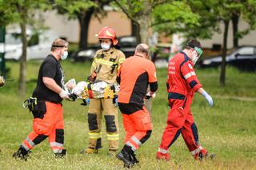
[[173, 34], [185, 26], [197, 26], [198, 16], [193, 14], [186, 1], [174, 0], [114, 0], [115, 4], [138, 25], [141, 41], [148, 43], [149, 29]]

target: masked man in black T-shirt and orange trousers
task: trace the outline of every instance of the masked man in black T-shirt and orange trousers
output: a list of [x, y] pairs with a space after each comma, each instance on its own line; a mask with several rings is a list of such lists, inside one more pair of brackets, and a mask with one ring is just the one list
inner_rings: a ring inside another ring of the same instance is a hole
[[34, 116], [33, 132], [23, 140], [14, 158], [26, 160], [30, 150], [36, 144], [49, 139], [56, 157], [66, 155], [64, 144], [64, 123], [62, 114], [62, 99], [68, 98], [64, 90], [64, 71], [60, 61], [65, 60], [68, 52], [68, 42], [55, 39], [50, 54], [42, 62], [38, 73], [38, 83], [29, 101], [30, 111]]

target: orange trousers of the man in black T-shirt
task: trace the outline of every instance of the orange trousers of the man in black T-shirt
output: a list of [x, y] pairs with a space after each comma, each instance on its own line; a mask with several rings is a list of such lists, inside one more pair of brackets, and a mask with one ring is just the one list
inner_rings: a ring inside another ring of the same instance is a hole
[[62, 105], [46, 102], [46, 113], [42, 118], [34, 118], [33, 132], [22, 142], [27, 151], [48, 137], [54, 153], [61, 153], [64, 144], [64, 122]]

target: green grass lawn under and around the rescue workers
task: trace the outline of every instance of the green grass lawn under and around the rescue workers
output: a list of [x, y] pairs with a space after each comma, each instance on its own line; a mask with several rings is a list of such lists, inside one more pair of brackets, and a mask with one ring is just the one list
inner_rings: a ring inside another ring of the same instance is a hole
[[[27, 93], [30, 97], [38, 76], [40, 62], [30, 61], [27, 67]], [[26, 97], [18, 95], [18, 63], [7, 62], [10, 77], [0, 89], [0, 169], [120, 169], [122, 162], [106, 156], [107, 141], [103, 128], [103, 148], [97, 155], [83, 155], [80, 150], [88, 143], [87, 109], [79, 101], [64, 101], [65, 146], [67, 156], [56, 160], [45, 140], [32, 150], [29, 160], [14, 160], [18, 149], [32, 129], [32, 115], [22, 108]], [[66, 80], [82, 81], [88, 76], [90, 63], [63, 62]], [[198, 69], [198, 78], [214, 98], [210, 109], [205, 99], [196, 94], [191, 110], [198, 125], [199, 140], [203, 147], [215, 152], [214, 161], [198, 162], [186, 148], [182, 136], [170, 148], [169, 162], [155, 160], [155, 154], [166, 127], [169, 111], [166, 101], [166, 69], [158, 69], [159, 89], [153, 105], [153, 133], [138, 150], [140, 167], [134, 169], [256, 169], [256, 90], [255, 73], [242, 73], [232, 67], [226, 70], [226, 86], [218, 85], [219, 69]], [[120, 148], [124, 131], [119, 114]], [[103, 124], [105, 125], [105, 124]]]

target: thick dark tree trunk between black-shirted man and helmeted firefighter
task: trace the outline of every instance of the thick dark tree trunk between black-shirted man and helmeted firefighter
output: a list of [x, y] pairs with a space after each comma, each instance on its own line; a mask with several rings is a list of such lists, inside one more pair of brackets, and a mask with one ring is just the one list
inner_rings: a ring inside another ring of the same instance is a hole
[[80, 24], [80, 40], [79, 40], [79, 49], [86, 49], [88, 46], [88, 32], [90, 25], [90, 18], [94, 12], [94, 7], [91, 7], [83, 15], [78, 15], [78, 21]]

